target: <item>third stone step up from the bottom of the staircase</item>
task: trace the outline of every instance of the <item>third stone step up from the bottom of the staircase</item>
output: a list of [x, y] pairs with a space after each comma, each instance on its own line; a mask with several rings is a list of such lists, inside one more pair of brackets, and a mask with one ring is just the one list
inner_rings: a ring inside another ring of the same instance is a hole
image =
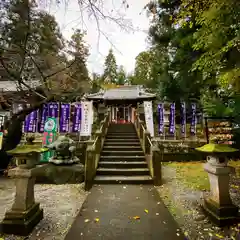
[[100, 161], [98, 163], [99, 168], [147, 168], [147, 163], [145, 161]]

